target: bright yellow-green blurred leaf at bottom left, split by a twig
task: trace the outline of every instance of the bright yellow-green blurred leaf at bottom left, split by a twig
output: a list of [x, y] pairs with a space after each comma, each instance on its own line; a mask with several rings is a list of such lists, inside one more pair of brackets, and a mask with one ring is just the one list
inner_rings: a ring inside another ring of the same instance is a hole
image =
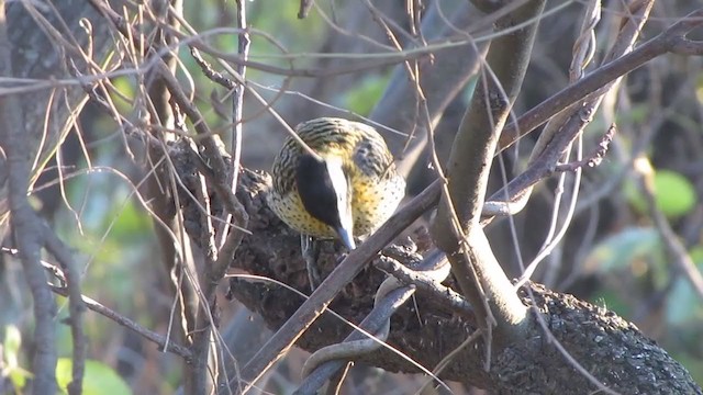
[[[59, 358], [56, 364], [56, 380], [59, 388], [67, 394], [66, 387], [72, 380], [72, 361], [69, 358]], [[83, 376], [83, 395], [131, 395], [132, 391], [118, 373], [107, 364], [94, 361], [86, 361], [86, 374]]]

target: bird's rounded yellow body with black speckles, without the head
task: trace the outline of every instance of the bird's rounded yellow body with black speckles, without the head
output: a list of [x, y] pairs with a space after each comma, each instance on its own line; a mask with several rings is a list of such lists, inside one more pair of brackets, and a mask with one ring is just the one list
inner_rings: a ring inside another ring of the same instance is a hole
[[[352, 190], [355, 236], [368, 235], [390, 217], [404, 195], [405, 181], [395, 170], [393, 157], [376, 129], [333, 117], [308, 121], [295, 129], [300, 139], [317, 155], [342, 160]], [[293, 229], [332, 238], [334, 230], [305, 211], [298, 193], [295, 169], [305, 153], [294, 138], [286, 140], [274, 161], [269, 205]]]

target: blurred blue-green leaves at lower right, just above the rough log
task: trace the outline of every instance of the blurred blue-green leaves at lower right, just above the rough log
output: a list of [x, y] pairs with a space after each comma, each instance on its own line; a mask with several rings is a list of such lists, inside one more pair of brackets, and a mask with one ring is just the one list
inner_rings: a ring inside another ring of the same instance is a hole
[[[665, 248], [652, 227], [624, 228], [605, 237], [591, 251], [584, 271], [601, 279], [592, 295], [598, 304], [629, 319], [640, 316], [643, 323], [647, 317], [660, 320], [656, 325], [660, 329], [654, 329], [663, 330], [658, 341], [700, 383], [703, 382], [703, 343], [700, 341], [703, 303], [690, 280], [669, 260]], [[690, 256], [703, 271], [703, 247], [692, 248]], [[657, 294], [665, 295], [661, 304], [656, 302]], [[641, 316], [643, 308], [645, 316]]]

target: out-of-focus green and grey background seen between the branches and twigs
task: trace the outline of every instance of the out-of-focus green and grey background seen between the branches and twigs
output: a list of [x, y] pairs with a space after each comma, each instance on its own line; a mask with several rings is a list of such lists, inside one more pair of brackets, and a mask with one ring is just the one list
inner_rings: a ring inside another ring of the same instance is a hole
[[[250, 59], [287, 67], [289, 60], [280, 56], [279, 47], [282, 47], [287, 54], [295, 55], [294, 64], [299, 67], [335, 70], [348, 64], [349, 58], [315, 54], [388, 50], [387, 33], [375, 15], [382, 15], [393, 32], [411, 32], [415, 27], [408, 16], [406, 1], [369, 4], [317, 1], [310, 16], [299, 20], [295, 1], [247, 1], [249, 26], [270, 37], [253, 34]], [[618, 22], [617, 4], [605, 1], [603, 7], [596, 61], [612, 43]], [[457, 8], [453, 1], [425, 3], [419, 14], [423, 18], [432, 14], [435, 19], [433, 23], [424, 20], [422, 25], [428, 41], [442, 36], [449, 27], [464, 31], [465, 27], [451, 25], [449, 21], [466, 23], [465, 26], [480, 22], [481, 15], [476, 10], [466, 21], [453, 19]], [[692, 8], [691, 2], [682, 0], [658, 2], [641, 40], [655, 36]], [[572, 2], [545, 16], [526, 83], [514, 109], [517, 115], [568, 84], [571, 47], [579, 34], [576, 21], [582, 18], [583, 9], [580, 2]], [[435, 11], [431, 13], [432, 10]], [[185, 19], [201, 33], [234, 26], [234, 14], [231, 1], [203, 0], [183, 5]], [[207, 40], [222, 52], [234, 54], [235, 33], [210, 35]], [[403, 34], [397, 36], [403, 45], [412, 45]], [[484, 42], [478, 40], [476, 48], [465, 46], [465, 52], [455, 50], [447, 58], [470, 58], [476, 55], [475, 49], [481, 50], [481, 45]], [[440, 60], [446, 59], [439, 58], [436, 64], [427, 60], [427, 80], [456, 77], [442, 74]], [[189, 76], [181, 70], [178, 77], [192, 90], [211, 128], [228, 142], [227, 123], [220, 115], [228, 108], [217, 104], [227, 92], [200, 72], [187, 48], [180, 48], [180, 61]], [[469, 71], [477, 65], [473, 59], [465, 66], [466, 77], [451, 82], [451, 89], [436, 82], [443, 90], [428, 94], [429, 105], [439, 113], [433, 120], [439, 158], [448, 157], [453, 132], [461, 121], [475, 84], [476, 74]], [[703, 382], [703, 294], [691, 285], [690, 274], [681, 269], [680, 261], [689, 259], [698, 270], [703, 269], [702, 66], [700, 57], [656, 58], [628, 75], [617, 94], [604, 101], [584, 135], [587, 155], [595, 149], [613, 122], [617, 123], [617, 134], [604, 161], [584, 170], [573, 219], [563, 241], [533, 276], [537, 282], [573, 293], [633, 321], [683, 363], [699, 383]], [[391, 98], [403, 89], [411, 91], [402, 67], [388, 65], [313, 78], [286, 78], [252, 67], [247, 80], [264, 98], [275, 101], [272, 108], [291, 126], [323, 115], [370, 117], [388, 126], [379, 129], [409, 177], [409, 195], [419, 193], [434, 179], [424, 131], [412, 105], [416, 98], [402, 94], [401, 99]], [[135, 78], [119, 77], [113, 82], [124, 98], [135, 97]], [[281, 93], [282, 88], [286, 91]], [[129, 100], [116, 95], [114, 100], [124, 114], [133, 111], [134, 104]], [[242, 162], [252, 169], [268, 170], [287, 134], [249, 94], [245, 95], [245, 104]], [[154, 224], [136, 196], [146, 174], [143, 148], [125, 137], [119, 125], [90, 102], [81, 112], [78, 126], [37, 181], [32, 203], [74, 249], [81, 264], [86, 295], [147, 328], [166, 334], [174, 305], [168, 286], [170, 279], [159, 263]], [[509, 178], [524, 167], [536, 135], [528, 135], [502, 155]], [[502, 183], [500, 171], [495, 174], [493, 190]], [[645, 188], [647, 183], [654, 185], [651, 200]], [[520, 276], [521, 264], [529, 263], [543, 247], [554, 217], [555, 200], [571, 199], [569, 183], [563, 190], [560, 188], [556, 178], [538, 185], [527, 208], [513, 218], [515, 236], [511, 234], [509, 221], [490, 226], [493, 249], [509, 276]], [[563, 222], [565, 215], [557, 213], [556, 221]], [[667, 233], [667, 226], [672, 234]], [[672, 249], [671, 237], [683, 246], [682, 251]], [[20, 350], [31, 347], [25, 338], [32, 328], [30, 298], [21, 267], [8, 257], [0, 262], [0, 275], [5, 368], [2, 374], [22, 380], [22, 368], [29, 364], [23, 359], [27, 353]], [[65, 317], [65, 300], [60, 300], [60, 307], [59, 315]], [[256, 351], [268, 332], [257, 317], [236, 301], [221, 308], [223, 323], [231, 319], [237, 323], [228, 329], [242, 340], [238, 352], [246, 361], [246, 356]], [[96, 361], [93, 369], [102, 372], [98, 374], [103, 383], [122, 382], [134, 394], [171, 394], [177, 390], [181, 379], [178, 358], [160, 353], [152, 343], [102, 316], [88, 313], [85, 319], [89, 358]], [[69, 328], [60, 328], [62, 357], [70, 357]], [[278, 388], [275, 393], [294, 388], [305, 356], [295, 351], [281, 362], [269, 377], [269, 388]], [[10, 363], [12, 361], [14, 363]], [[419, 380], [380, 371], [365, 374], [356, 387], [359, 394], [410, 393]], [[103, 384], [101, 393], [122, 394], [120, 385]], [[459, 386], [455, 390], [457, 393], [470, 391]]]

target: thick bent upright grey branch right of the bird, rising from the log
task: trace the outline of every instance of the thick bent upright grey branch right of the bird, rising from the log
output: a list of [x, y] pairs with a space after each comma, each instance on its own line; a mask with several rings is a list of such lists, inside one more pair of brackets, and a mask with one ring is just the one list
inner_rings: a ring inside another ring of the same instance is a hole
[[[502, 129], [512, 103], [520, 91], [527, 69], [537, 18], [544, 1], [533, 1], [501, 19], [496, 31], [535, 20], [510, 34], [502, 34], [491, 43], [483, 76], [473, 98], [447, 163], [448, 192], [440, 202], [433, 236], [437, 246], [447, 252], [453, 272], [465, 296], [488, 320], [496, 319], [499, 335], [520, 338], [513, 334], [525, 318], [525, 306], [513, 292], [510, 281], [495, 260], [479, 219], [488, 185], [488, 176]], [[454, 216], [458, 224], [454, 222]], [[460, 226], [460, 229], [456, 227]], [[466, 250], [465, 240], [468, 236]], [[481, 287], [486, 292], [482, 294]], [[488, 297], [488, 308], [484, 297]], [[481, 309], [483, 309], [481, 312]], [[501, 340], [501, 336], [498, 338]]]

